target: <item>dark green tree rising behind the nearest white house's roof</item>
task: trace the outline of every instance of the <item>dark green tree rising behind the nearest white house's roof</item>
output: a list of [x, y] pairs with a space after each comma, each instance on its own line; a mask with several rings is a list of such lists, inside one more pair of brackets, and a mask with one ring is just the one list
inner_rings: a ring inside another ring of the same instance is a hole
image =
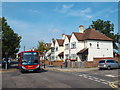
[[114, 24], [111, 24], [110, 21], [103, 21], [98, 19], [97, 21], [92, 21], [92, 24], [89, 28], [94, 28], [95, 30], [105, 34], [109, 38], [113, 39], [113, 48], [119, 49], [118, 44], [120, 44], [120, 35], [114, 33]]

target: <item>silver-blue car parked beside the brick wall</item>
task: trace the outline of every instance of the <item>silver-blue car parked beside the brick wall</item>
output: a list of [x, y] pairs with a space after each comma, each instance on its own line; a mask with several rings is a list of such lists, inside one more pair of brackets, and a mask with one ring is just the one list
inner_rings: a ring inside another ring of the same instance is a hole
[[98, 63], [99, 69], [113, 69], [120, 68], [120, 63], [113, 59], [100, 60]]

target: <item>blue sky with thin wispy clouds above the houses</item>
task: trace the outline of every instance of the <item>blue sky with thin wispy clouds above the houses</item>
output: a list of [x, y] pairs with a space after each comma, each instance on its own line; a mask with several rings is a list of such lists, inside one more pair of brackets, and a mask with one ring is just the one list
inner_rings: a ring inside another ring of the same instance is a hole
[[117, 2], [3, 2], [2, 16], [22, 36], [20, 51], [78, 32], [97, 19], [110, 20], [118, 32]]

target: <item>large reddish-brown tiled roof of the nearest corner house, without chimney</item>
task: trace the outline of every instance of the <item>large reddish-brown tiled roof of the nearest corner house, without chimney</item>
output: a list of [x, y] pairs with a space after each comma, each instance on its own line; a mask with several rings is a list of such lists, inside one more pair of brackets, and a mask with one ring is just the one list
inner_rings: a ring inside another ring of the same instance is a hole
[[73, 32], [78, 41], [80, 40], [107, 40], [112, 41], [113, 39], [107, 37], [106, 35], [96, 31], [95, 29], [87, 29], [83, 33]]

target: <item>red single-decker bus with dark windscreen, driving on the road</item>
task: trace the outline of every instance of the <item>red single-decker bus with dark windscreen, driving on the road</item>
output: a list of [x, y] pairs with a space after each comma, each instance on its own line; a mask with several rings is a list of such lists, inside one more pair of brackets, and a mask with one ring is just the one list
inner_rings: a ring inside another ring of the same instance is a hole
[[18, 67], [21, 72], [40, 71], [40, 55], [38, 51], [22, 51], [18, 54]]

